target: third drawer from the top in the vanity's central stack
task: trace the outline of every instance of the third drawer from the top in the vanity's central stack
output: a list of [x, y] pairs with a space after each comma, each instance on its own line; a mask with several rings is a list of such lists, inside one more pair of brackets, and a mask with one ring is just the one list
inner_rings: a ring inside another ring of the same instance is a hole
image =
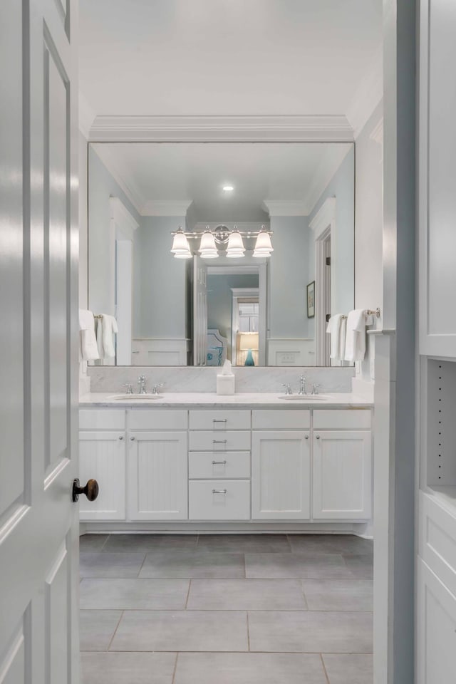
[[194, 451], [188, 455], [189, 477], [192, 480], [235, 479], [250, 477], [250, 452], [228, 451], [221, 456], [216, 452]]

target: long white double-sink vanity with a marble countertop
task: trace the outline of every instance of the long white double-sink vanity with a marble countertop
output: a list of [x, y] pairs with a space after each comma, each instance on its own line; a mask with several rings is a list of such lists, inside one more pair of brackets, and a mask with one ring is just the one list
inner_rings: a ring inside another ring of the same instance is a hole
[[372, 517], [372, 406], [350, 393], [80, 404], [86, 529], [352, 530]]

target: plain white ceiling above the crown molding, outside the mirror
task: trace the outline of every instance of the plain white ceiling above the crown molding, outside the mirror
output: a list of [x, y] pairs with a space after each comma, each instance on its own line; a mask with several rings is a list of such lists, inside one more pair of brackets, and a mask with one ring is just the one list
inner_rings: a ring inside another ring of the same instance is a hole
[[346, 115], [355, 128], [358, 100], [381, 97], [382, 0], [80, 0], [80, 40], [93, 116]]

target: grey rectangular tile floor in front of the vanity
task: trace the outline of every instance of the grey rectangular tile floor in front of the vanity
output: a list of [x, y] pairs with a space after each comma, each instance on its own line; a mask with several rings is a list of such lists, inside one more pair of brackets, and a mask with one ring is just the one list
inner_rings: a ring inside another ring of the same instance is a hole
[[83, 684], [372, 684], [371, 541], [81, 537]]

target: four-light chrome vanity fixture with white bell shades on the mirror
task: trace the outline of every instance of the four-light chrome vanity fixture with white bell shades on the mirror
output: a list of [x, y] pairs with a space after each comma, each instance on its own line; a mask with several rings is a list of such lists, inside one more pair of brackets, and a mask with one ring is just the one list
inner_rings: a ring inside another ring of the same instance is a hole
[[214, 230], [206, 226], [204, 232], [186, 232], [182, 226], [172, 233], [171, 252], [176, 259], [191, 259], [193, 250], [190, 248], [189, 240], [200, 240], [199, 256], [202, 259], [217, 259], [220, 256], [222, 247], [226, 247], [225, 256], [229, 259], [241, 259], [245, 255], [246, 248], [244, 240], [249, 242], [255, 240], [253, 256], [258, 258], [270, 257], [274, 249], [271, 244], [272, 232], [266, 226], [261, 226], [261, 230], [241, 231], [234, 224], [233, 229], [219, 225]]

